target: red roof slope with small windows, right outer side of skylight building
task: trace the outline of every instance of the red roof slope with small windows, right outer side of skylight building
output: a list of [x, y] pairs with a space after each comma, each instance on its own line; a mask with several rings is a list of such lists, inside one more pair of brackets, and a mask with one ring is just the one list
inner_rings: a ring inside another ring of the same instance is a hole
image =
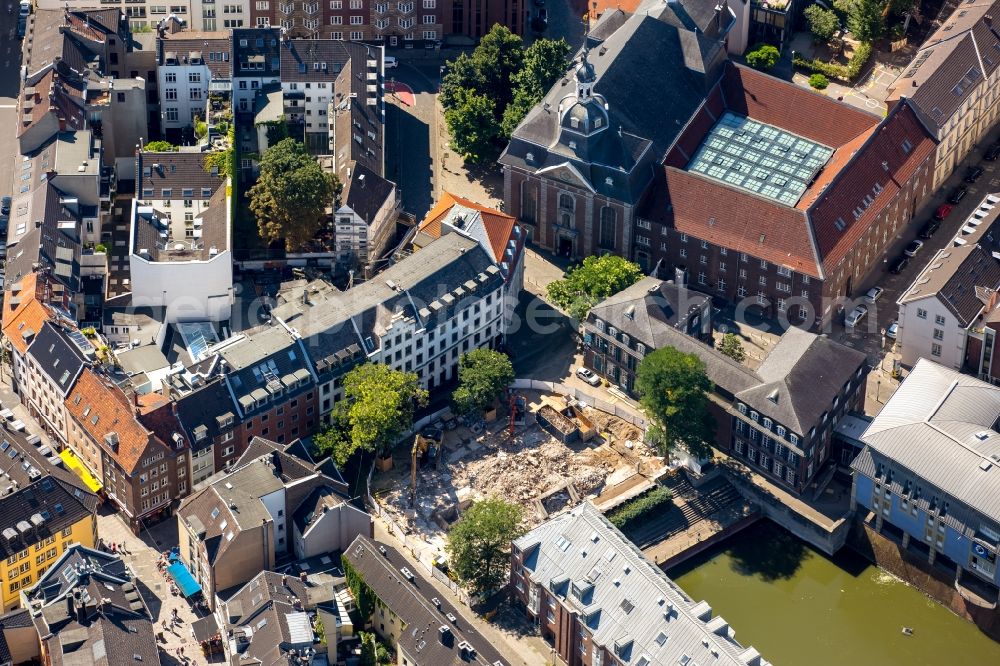
[[[904, 141], [911, 146], [904, 150]], [[809, 209], [823, 264], [831, 270], [854, 246], [882, 210], [899, 194], [901, 184], [934, 152], [934, 141], [908, 103], [893, 107], [864, 145], [849, 157]], [[869, 197], [866, 200], [866, 197]], [[908, 203], [908, 202], [907, 202]], [[855, 219], [853, 211], [861, 211]], [[836, 228], [837, 220], [847, 225]]]

